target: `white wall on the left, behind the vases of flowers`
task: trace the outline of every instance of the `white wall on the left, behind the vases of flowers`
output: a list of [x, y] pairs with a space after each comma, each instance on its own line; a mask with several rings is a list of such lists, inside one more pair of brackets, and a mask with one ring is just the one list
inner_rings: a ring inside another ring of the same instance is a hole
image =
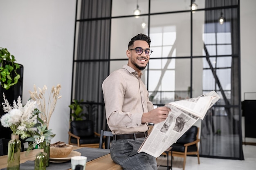
[[0, 0], [0, 47], [24, 66], [22, 103], [34, 84], [45, 84], [49, 92], [62, 86], [49, 125], [56, 134], [52, 142], [68, 141], [75, 5], [75, 0]]

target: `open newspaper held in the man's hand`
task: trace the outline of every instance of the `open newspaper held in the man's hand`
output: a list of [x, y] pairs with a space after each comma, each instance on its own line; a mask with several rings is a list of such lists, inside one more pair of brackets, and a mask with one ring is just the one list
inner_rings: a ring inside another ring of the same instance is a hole
[[207, 110], [218, 99], [220, 99], [220, 96], [215, 91], [211, 91], [196, 98], [166, 104], [166, 107], [171, 108], [168, 117], [165, 121], [153, 126], [138, 152], [146, 152], [153, 157], [159, 157], [198, 119], [204, 119]]

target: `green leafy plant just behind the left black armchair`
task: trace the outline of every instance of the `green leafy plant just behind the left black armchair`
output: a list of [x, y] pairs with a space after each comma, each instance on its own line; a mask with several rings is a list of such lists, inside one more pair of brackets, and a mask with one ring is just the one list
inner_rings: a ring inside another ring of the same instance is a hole
[[70, 119], [70, 121], [83, 120], [83, 117], [85, 116], [85, 113], [83, 113], [83, 106], [81, 105], [81, 102], [83, 102], [83, 99], [81, 99], [80, 101], [74, 99], [73, 102], [74, 103], [69, 105], [69, 107], [72, 110], [72, 113], [71, 113], [72, 118]]

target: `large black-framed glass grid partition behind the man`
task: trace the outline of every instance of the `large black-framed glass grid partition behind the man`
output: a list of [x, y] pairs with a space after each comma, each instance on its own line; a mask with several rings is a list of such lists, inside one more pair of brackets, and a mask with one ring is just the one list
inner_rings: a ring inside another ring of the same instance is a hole
[[[96, 131], [106, 130], [101, 84], [128, 63], [128, 42], [144, 33], [153, 53], [141, 80], [153, 104], [216, 91], [221, 99], [199, 123], [200, 156], [243, 159], [239, 0], [196, 0], [196, 11], [190, 9], [192, 2], [78, 0], [72, 98], [91, 106]], [[141, 14], [135, 17], [137, 6]]]

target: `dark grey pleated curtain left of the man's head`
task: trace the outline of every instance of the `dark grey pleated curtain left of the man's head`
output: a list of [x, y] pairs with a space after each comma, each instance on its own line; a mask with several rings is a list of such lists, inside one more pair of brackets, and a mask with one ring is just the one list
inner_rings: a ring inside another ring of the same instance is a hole
[[74, 57], [74, 99], [83, 99], [87, 119], [94, 131], [106, 130], [101, 84], [108, 76], [110, 54], [111, 0], [82, 0], [77, 16]]

